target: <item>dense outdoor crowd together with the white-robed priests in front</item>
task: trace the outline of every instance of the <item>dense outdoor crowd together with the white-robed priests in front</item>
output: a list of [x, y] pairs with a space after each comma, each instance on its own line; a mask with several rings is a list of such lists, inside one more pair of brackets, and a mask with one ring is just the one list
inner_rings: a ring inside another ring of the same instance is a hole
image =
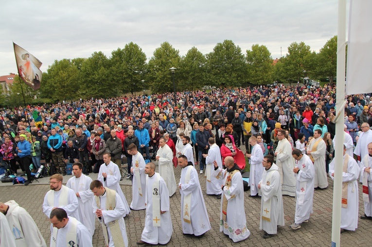
[[[107, 230], [107, 246], [127, 246], [121, 219], [131, 209], [146, 210], [137, 244], [169, 242], [169, 198], [177, 188], [183, 233], [202, 236], [209, 231], [198, 176], [206, 178], [207, 195], [221, 198], [220, 231], [233, 242], [248, 238], [242, 179], [247, 158], [250, 197], [261, 197], [260, 229], [269, 238], [284, 225], [283, 195], [296, 197], [295, 220], [289, 227], [297, 230], [310, 218], [314, 189], [326, 189], [327, 176], [333, 179], [335, 92], [327, 85], [257, 86], [178, 92], [176, 103], [172, 94], [161, 94], [4, 109], [1, 162], [15, 175], [19, 165], [27, 175], [25, 185], [32, 182], [31, 172], [41, 160], [53, 167], [43, 210], [52, 222], [54, 246], [71, 237], [71, 232], [55, 230], [66, 224], [76, 231], [74, 243], [91, 239], [95, 217]], [[360, 218], [372, 219], [370, 96], [349, 97], [344, 121], [341, 231], [354, 231], [357, 179], [366, 188]], [[74, 177], [64, 186], [68, 164]], [[173, 169], [177, 165], [182, 168], [178, 185]], [[89, 172], [97, 172], [98, 179], [91, 181]], [[119, 185], [124, 178], [132, 180], [130, 206]]]

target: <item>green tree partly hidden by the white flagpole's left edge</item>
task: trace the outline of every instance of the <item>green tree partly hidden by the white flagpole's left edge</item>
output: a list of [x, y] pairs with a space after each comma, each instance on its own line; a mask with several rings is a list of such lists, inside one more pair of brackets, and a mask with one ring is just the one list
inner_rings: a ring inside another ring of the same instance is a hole
[[328, 78], [333, 83], [337, 71], [337, 35], [328, 40], [319, 50], [315, 76]]

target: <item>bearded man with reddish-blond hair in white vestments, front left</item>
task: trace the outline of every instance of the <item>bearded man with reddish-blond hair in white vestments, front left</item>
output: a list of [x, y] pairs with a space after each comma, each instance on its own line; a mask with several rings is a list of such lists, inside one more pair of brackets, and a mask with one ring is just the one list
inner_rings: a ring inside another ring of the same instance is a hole
[[47, 192], [43, 202], [43, 212], [49, 218], [54, 208], [62, 208], [67, 215], [80, 220], [79, 202], [73, 190], [62, 185], [61, 174], [54, 174], [49, 178], [51, 190]]

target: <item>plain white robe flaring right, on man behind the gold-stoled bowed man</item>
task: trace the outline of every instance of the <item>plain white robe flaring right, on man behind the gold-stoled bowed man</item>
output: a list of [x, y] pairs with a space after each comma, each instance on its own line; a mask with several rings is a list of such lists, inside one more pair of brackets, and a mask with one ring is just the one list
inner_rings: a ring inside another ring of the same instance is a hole
[[[102, 173], [107, 174], [107, 178], [105, 179], [102, 176]], [[130, 213], [129, 205], [128, 202], [125, 199], [124, 193], [122, 191], [122, 188], [120, 188], [119, 181], [121, 179], [120, 171], [118, 165], [110, 161], [108, 165], [106, 163], [102, 164], [100, 167], [100, 171], [98, 173], [98, 178], [97, 180], [101, 181], [104, 185], [104, 187], [107, 187], [109, 189], [115, 190], [116, 193], [120, 196], [124, 203], [124, 208], [125, 208], [125, 215]]]

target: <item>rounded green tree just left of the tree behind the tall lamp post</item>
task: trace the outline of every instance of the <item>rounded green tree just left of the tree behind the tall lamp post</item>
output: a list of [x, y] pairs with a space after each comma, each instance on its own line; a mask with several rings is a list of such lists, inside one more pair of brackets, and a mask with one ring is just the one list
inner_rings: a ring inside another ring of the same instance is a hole
[[112, 51], [110, 64], [112, 78], [121, 92], [133, 94], [144, 88], [141, 81], [146, 74], [146, 54], [137, 44], [130, 42], [124, 49]]

